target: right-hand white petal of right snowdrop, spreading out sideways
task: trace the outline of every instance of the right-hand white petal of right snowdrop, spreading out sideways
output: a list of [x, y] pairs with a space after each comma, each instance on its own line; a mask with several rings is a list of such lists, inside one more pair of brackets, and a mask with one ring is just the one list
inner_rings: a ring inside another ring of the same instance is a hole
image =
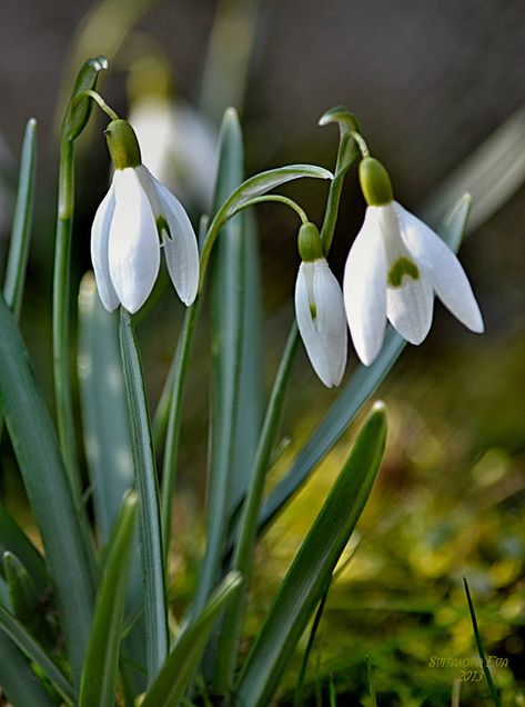
[[465, 327], [482, 332], [482, 313], [456, 256], [426, 223], [398, 203], [395, 209], [402, 238], [417, 266], [427, 273], [437, 297]]

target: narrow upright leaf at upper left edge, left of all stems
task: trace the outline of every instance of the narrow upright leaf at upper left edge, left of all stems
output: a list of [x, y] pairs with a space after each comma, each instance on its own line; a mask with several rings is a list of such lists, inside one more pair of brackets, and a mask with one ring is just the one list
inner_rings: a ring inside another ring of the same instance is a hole
[[37, 121], [31, 118], [23, 136], [20, 158], [20, 175], [17, 191], [17, 206], [9, 246], [3, 297], [14, 318], [20, 317], [23, 283], [28, 262], [29, 241], [34, 206], [34, 180], [37, 171]]

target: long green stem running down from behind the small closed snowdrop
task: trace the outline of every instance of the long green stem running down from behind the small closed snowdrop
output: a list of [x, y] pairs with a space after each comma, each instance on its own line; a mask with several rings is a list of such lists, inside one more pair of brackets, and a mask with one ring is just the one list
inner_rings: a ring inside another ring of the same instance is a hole
[[242, 509], [239, 540], [235, 545], [232, 569], [238, 569], [242, 574], [243, 584], [240, 591], [230, 601], [224, 615], [221, 644], [219, 647], [220, 676], [218, 677], [222, 681], [222, 685], [219, 685], [220, 689], [229, 690], [232, 685], [239, 651], [239, 643], [241, 639], [242, 620], [244, 617], [248, 584], [253, 560], [253, 546], [256, 538], [259, 511], [264, 491], [264, 481], [270, 466], [279, 424], [281, 421], [284, 396], [295, 352], [297, 350], [297, 326], [294, 321], [290, 330], [267, 404], [266, 415], [264, 417], [261, 437], [255, 452], [252, 478], [249, 485], [250, 490]]

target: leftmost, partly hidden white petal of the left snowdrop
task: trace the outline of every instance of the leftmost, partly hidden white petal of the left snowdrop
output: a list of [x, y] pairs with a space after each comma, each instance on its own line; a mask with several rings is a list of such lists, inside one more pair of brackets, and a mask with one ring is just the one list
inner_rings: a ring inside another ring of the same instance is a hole
[[99, 297], [108, 311], [113, 311], [119, 306], [119, 298], [111, 282], [108, 252], [114, 205], [114, 187], [111, 183], [108, 193], [97, 209], [91, 227], [91, 262], [93, 263]]

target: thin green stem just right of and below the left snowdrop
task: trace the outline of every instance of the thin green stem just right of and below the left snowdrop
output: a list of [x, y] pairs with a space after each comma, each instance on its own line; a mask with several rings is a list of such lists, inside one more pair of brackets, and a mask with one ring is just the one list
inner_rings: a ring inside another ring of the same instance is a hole
[[201, 298], [186, 309], [182, 331], [176, 346], [175, 358], [170, 370], [170, 404], [168, 432], [164, 448], [161, 492], [162, 539], [164, 546], [164, 561], [168, 566], [168, 555], [171, 540], [171, 516], [176, 480], [176, 459], [179, 455], [179, 439], [182, 424], [182, 401], [184, 397], [190, 354], [194, 339], [195, 323], [201, 308]]

